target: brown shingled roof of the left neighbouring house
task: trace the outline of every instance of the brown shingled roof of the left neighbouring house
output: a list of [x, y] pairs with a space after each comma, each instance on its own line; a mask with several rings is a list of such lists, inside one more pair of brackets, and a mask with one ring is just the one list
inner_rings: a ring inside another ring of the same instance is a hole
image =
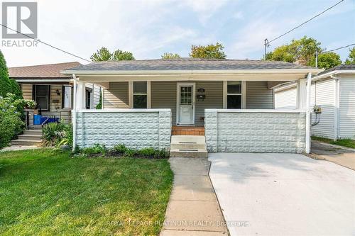
[[9, 77], [14, 79], [27, 78], [68, 78], [70, 76], [61, 74], [64, 69], [79, 67], [80, 62], [64, 62], [57, 64], [40, 64], [28, 67], [10, 67]]

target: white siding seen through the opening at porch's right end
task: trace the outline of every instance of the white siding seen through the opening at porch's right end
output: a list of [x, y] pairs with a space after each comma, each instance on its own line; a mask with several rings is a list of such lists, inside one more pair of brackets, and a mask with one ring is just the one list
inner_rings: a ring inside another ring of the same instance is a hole
[[275, 92], [275, 109], [297, 108], [297, 88]]

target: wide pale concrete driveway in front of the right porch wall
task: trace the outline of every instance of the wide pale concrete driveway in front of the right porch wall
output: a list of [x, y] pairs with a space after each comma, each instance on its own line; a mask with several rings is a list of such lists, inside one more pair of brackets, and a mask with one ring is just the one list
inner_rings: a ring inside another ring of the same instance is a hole
[[231, 235], [355, 235], [355, 172], [302, 154], [214, 153]]

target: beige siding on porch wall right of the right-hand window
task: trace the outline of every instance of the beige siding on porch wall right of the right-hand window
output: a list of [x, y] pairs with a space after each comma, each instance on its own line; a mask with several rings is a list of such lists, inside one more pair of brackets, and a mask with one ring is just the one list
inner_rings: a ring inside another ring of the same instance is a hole
[[268, 89], [268, 82], [246, 82], [246, 108], [273, 109], [273, 89]]

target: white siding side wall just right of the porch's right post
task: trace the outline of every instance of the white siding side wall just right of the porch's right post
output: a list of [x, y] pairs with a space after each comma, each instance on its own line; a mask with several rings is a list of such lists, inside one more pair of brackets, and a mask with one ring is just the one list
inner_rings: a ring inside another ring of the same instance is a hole
[[[322, 108], [320, 123], [312, 126], [313, 136], [334, 138], [334, 79], [326, 79], [313, 82], [311, 86], [311, 107], [317, 105]], [[315, 121], [315, 113], [312, 113], [312, 123]]]

